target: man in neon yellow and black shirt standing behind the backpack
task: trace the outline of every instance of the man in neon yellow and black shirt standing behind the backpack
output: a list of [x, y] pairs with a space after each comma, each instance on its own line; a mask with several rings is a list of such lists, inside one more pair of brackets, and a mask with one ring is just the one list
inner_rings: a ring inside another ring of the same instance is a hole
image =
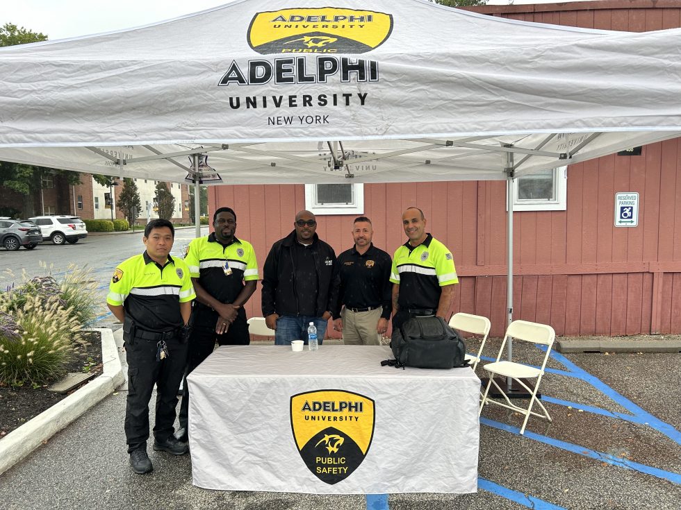
[[426, 223], [418, 207], [402, 214], [409, 239], [393, 256], [393, 331], [413, 316], [436, 315], [447, 321], [452, 307], [454, 284], [459, 283], [454, 257], [426, 232]]

